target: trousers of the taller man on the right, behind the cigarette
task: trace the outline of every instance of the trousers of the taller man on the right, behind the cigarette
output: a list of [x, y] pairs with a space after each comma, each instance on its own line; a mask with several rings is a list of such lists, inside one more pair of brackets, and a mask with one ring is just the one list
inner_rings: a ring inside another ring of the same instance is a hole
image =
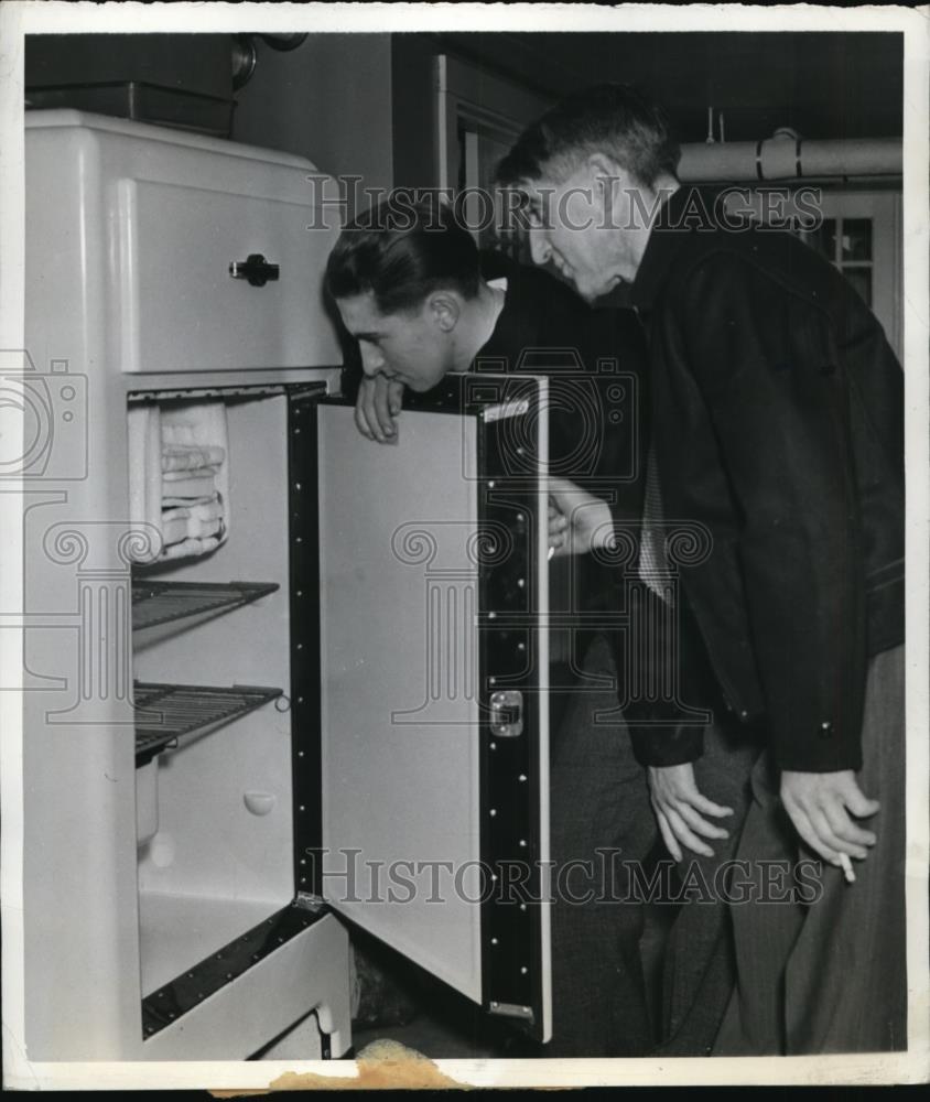
[[[904, 735], [904, 647], [896, 647], [869, 661], [856, 778], [882, 804], [868, 821], [878, 841], [853, 863], [854, 884], [822, 863], [809, 905], [733, 908], [738, 984], [714, 1055], [907, 1047]], [[799, 860], [777, 786], [766, 755], [753, 773], [739, 860]]]

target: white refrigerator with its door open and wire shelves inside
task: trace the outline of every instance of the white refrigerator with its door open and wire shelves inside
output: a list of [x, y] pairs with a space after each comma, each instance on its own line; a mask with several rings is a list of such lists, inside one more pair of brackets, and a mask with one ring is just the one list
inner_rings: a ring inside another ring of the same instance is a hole
[[354, 926], [549, 1036], [545, 382], [450, 376], [363, 440], [337, 199], [26, 115], [30, 1060], [343, 1057]]

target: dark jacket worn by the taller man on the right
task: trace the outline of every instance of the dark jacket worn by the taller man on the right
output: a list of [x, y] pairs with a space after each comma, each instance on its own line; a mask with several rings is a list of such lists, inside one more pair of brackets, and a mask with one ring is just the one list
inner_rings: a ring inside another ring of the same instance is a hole
[[[904, 639], [901, 368], [796, 238], [677, 228], [690, 191], [631, 290], [664, 515], [713, 541], [681, 568], [685, 615], [728, 706], [764, 717], [777, 766], [858, 769], [867, 658]], [[661, 764], [700, 754], [694, 728], [653, 742]]]

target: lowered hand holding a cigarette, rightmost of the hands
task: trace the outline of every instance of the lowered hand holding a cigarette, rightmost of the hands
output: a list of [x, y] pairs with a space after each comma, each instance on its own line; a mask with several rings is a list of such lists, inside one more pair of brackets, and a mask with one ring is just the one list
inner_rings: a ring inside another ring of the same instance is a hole
[[867, 847], [875, 845], [875, 834], [850, 818], [852, 814], [863, 819], [878, 811], [878, 801], [865, 796], [852, 769], [840, 773], [785, 769], [781, 802], [801, 838], [831, 865], [841, 864], [841, 853], [864, 861]]

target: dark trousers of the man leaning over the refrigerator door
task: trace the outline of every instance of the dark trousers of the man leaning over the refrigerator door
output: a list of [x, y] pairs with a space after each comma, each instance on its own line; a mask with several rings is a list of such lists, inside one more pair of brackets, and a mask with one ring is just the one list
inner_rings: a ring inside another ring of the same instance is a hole
[[[642, 871], [641, 887], [653, 873], [647, 857], [657, 842], [656, 819], [646, 773], [632, 756], [623, 723], [595, 722], [597, 712], [616, 712], [617, 705], [614, 658], [606, 640], [593, 642], [584, 672], [607, 683], [573, 694], [555, 741], [553, 1039], [544, 1055], [704, 1055], [734, 983], [726, 903], [714, 890], [715, 874], [722, 862], [733, 857], [759, 743], [728, 716], [717, 716], [705, 733], [704, 755], [694, 767], [698, 786], [710, 799], [733, 808], [734, 814], [725, 820], [729, 838], [712, 843], [713, 858], [686, 853], [683, 867], [677, 869], [685, 884], [696, 877], [699, 887], [688, 894], [671, 925], [659, 1020], [653, 1023], [640, 957], [649, 908], [641, 892], [630, 890], [627, 863]], [[664, 851], [663, 860], [671, 864]], [[584, 863], [590, 863], [590, 874]], [[617, 865], [618, 875], [602, 875]], [[700, 885], [710, 886], [711, 898]], [[593, 898], [585, 898], [590, 889]], [[670, 906], [650, 905], [653, 914], [657, 907]]]

